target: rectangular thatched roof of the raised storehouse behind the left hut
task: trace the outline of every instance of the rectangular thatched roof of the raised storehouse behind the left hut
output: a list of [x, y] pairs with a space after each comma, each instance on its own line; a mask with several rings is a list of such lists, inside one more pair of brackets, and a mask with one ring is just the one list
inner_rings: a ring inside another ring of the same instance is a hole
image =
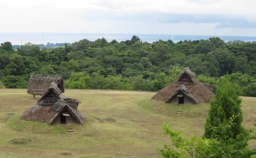
[[30, 74], [27, 92], [28, 94], [42, 95], [49, 88], [52, 82], [55, 82], [62, 93], [65, 92], [62, 76], [42, 74]]

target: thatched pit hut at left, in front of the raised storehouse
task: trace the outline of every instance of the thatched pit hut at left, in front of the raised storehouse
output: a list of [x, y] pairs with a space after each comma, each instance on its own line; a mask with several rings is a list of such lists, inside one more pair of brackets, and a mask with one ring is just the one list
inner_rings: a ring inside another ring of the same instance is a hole
[[20, 119], [48, 124], [82, 123], [86, 117], [77, 110], [79, 103], [78, 100], [65, 97], [53, 82], [34, 106], [20, 116]]

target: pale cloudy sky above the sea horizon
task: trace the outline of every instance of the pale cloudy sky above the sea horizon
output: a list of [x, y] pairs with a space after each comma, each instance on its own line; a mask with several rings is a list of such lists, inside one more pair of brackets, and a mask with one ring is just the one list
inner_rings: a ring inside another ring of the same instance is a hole
[[255, 0], [1, 0], [1, 32], [256, 36]]

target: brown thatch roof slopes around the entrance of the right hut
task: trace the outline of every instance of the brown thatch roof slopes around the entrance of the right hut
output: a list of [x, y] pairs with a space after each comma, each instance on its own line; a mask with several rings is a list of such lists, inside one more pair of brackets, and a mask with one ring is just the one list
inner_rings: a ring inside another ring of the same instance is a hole
[[180, 74], [179, 78], [160, 90], [156, 95], [152, 97], [152, 99], [171, 102], [171, 100], [177, 95], [176, 90], [180, 87], [181, 84], [184, 84], [186, 88], [190, 90], [190, 93], [188, 93], [187, 96], [192, 99], [194, 103], [209, 103], [210, 100], [214, 98], [213, 92], [204, 86], [204, 84], [198, 82], [194, 76], [190, 76], [190, 82], [180, 82], [180, 79], [184, 73], [190, 76], [189, 73], [184, 71], [182, 74]]

